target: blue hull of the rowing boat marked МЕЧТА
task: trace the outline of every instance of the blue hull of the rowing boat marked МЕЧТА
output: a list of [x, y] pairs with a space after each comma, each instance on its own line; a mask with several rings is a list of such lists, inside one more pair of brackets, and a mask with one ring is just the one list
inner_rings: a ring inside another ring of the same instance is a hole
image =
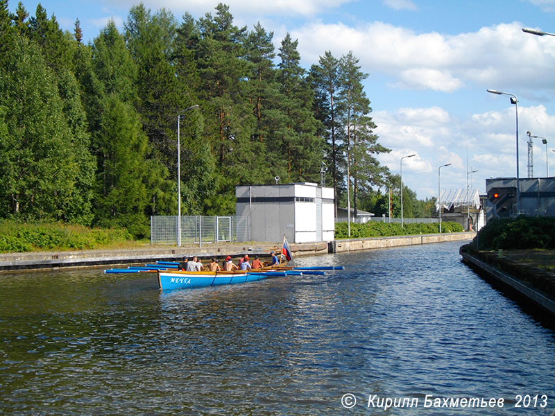
[[268, 273], [216, 274], [207, 272], [163, 272], [158, 271], [158, 286], [162, 291], [173, 289], [200, 288], [222, 284], [245, 283], [271, 276]]

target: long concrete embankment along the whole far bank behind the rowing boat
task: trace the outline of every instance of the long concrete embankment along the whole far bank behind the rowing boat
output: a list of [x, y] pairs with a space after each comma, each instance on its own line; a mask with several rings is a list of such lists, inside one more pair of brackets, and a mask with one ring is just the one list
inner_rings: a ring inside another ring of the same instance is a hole
[[[418, 236], [377, 237], [374, 239], [338, 240], [330, 243], [291, 243], [293, 257], [327, 254], [328, 252], [348, 252], [391, 248], [402, 245], [443, 243], [474, 238], [474, 232], [450, 234], [424, 234]], [[200, 259], [216, 257], [222, 259], [230, 255], [234, 259], [248, 254], [268, 257], [271, 250], [280, 252], [281, 243], [221, 243], [206, 244], [203, 248], [190, 247], [147, 247], [125, 250], [80, 250], [71, 252], [29, 252], [0, 254], [0, 272], [12, 270], [56, 270], [58, 268], [117, 266], [121, 264], [148, 263], [160, 261], [180, 261], [183, 257], [198, 256]]]

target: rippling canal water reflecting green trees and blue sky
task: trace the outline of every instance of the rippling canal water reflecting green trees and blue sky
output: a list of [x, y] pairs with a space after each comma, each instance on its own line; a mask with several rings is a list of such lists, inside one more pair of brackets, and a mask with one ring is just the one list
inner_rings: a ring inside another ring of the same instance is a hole
[[150, 274], [0, 275], [0, 413], [551, 415], [555, 331], [461, 263], [461, 244], [169, 293]]

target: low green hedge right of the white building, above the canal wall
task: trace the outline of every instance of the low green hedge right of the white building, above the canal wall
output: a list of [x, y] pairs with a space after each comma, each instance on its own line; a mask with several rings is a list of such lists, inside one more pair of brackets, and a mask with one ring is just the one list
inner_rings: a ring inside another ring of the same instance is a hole
[[[368, 221], [368, 223], [351, 223], [351, 236], [348, 235], [347, 223], [335, 224], [336, 239], [364, 239], [367, 237], [390, 237], [390, 236], [409, 236], [415, 234], [437, 234], [439, 232], [438, 223], [418, 223], [404, 224], [401, 227], [396, 223], [378, 223]], [[454, 221], [441, 223], [441, 232], [463, 232], [463, 226]]]

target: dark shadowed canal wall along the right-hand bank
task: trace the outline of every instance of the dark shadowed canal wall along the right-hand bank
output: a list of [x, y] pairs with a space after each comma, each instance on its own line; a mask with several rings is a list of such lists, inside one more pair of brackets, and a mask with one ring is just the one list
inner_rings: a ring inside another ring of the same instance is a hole
[[555, 275], [527, 263], [515, 261], [501, 252], [483, 252], [463, 245], [459, 253], [479, 275], [505, 290], [555, 315]]

